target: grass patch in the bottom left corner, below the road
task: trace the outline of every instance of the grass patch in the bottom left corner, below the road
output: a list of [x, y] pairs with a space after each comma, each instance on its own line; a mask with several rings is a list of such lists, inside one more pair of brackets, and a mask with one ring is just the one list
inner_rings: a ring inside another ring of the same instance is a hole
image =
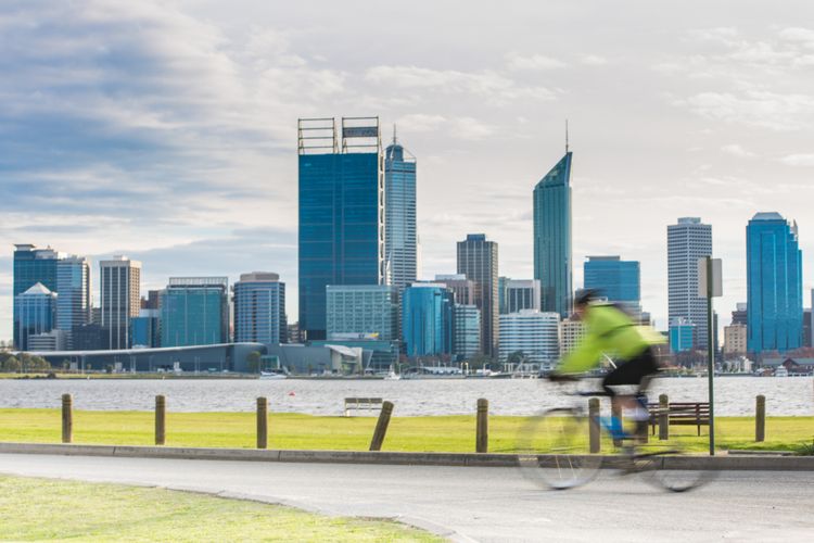
[[386, 520], [164, 489], [0, 476], [2, 541], [443, 541]]

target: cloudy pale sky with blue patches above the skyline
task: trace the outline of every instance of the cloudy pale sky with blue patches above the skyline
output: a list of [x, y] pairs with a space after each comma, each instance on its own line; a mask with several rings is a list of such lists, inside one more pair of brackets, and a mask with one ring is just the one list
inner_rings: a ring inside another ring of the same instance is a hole
[[[796, 219], [814, 286], [814, 4], [752, 1], [0, 3], [0, 339], [14, 243], [169, 276], [277, 272], [296, 320], [296, 121], [378, 115], [418, 160], [424, 278], [484, 232], [533, 276], [532, 190], [573, 151], [586, 255], [641, 262], [699, 216], [746, 301], [746, 225]], [[806, 26], [807, 25], [807, 26]], [[94, 289], [96, 290], [96, 289]], [[98, 298], [98, 293], [94, 292]]]

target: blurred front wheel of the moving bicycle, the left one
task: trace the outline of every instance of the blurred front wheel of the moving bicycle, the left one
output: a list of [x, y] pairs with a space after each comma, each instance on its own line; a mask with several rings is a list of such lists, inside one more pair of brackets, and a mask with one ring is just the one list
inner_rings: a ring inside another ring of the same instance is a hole
[[589, 453], [588, 417], [576, 409], [549, 409], [530, 417], [518, 433], [518, 465], [535, 484], [565, 490], [596, 477], [602, 457]]

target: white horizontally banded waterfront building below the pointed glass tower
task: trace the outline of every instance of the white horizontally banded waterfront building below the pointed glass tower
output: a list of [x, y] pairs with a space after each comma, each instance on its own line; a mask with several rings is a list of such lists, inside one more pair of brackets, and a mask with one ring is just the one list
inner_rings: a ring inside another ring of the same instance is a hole
[[559, 336], [559, 313], [521, 310], [500, 315], [499, 359], [521, 352], [525, 362], [554, 365], [560, 355]]

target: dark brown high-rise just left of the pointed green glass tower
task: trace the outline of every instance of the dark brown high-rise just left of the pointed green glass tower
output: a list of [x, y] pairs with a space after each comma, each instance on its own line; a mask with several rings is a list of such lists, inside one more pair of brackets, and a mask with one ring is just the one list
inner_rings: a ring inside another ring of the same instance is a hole
[[500, 329], [497, 243], [487, 241], [485, 233], [468, 235], [465, 241], [458, 242], [458, 273], [479, 285], [474, 305], [481, 310], [481, 349], [484, 354], [495, 356]]

